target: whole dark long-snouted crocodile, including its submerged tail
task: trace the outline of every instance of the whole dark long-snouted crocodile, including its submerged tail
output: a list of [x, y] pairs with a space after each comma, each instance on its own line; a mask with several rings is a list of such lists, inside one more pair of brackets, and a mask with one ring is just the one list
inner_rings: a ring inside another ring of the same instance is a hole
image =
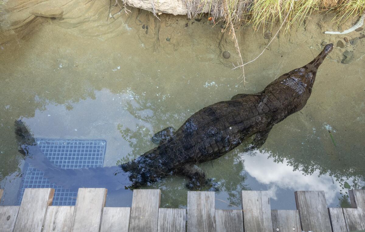
[[[259, 93], [241, 93], [231, 100], [204, 107], [176, 131], [165, 128], [151, 138], [157, 147], [119, 166], [60, 169], [42, 155], [31, 133], [18, 120], [16, 135], [23, 138], [19, 140], [20, 151], [32, 157], [29, 162], [45, 171], [51, 182], [70, 188], [105, 185], [138, 188], [173, 173], [187, 176], [189, 189], [213, 187], [214, 182], [196, 164], [217, 159], [251, 136], [253, 141], [246, 151], [260, 148], [275, 124], [306, 105], [318, 68], [332, 49], [333, 44], [327, 44], [310, 63], [281, 75]], [[96, 177], [97, 183], [93, 180]]]

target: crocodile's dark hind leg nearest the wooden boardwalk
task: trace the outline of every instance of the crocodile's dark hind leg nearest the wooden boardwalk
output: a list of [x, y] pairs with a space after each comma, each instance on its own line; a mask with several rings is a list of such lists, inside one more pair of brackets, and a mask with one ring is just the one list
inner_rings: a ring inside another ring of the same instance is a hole
[[178, 172], [189, 177], [190, 181], [186, 184], [186, 187], [190, 190], [218, 190], [216, 183], [212, 179], [206, 179], [203, 170], [195, 164], [185, 164]]

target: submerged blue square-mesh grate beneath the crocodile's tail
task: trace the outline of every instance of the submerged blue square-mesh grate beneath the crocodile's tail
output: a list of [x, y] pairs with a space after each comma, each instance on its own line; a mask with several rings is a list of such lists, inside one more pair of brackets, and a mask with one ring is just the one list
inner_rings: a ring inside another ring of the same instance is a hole
[[[105, 140], [49, 140], [37, 139], [43, 154], [55, 165], [64, 169], [103, 167]], [[54, 188], [52, 205], [75, 205], [77, 192], [51, 184], [43, 177], [44, 172], [32, 165], [24, 166], [23, 185], [18, 203], [25, 188]]]

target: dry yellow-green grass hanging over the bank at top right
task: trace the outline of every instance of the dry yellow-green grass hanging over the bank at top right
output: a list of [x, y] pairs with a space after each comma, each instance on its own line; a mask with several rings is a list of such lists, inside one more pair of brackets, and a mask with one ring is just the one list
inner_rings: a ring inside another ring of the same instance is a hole
[[[188, 16], [199, 17], [209, 12], [213, 21], [226, 21], [227, 28], [234, 25], [252, 23], [254, 28], [272, 27], [283, 23], [289, 13], [292, 0], [183, 0], [188, 8]], [[338, 22], [365, 11], [365, 0], [294, 0], [287, 20], [288, 29], [294, 22], [302, 23], [312, 12], [334, 10], [338, 12]]]

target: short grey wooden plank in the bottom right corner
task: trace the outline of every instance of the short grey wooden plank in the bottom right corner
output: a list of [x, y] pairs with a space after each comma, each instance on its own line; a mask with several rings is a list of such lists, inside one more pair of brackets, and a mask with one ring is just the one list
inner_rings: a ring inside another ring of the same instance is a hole
[[347, 231], [365, 230], [365, 214], [360, 208], [343, 208]]

